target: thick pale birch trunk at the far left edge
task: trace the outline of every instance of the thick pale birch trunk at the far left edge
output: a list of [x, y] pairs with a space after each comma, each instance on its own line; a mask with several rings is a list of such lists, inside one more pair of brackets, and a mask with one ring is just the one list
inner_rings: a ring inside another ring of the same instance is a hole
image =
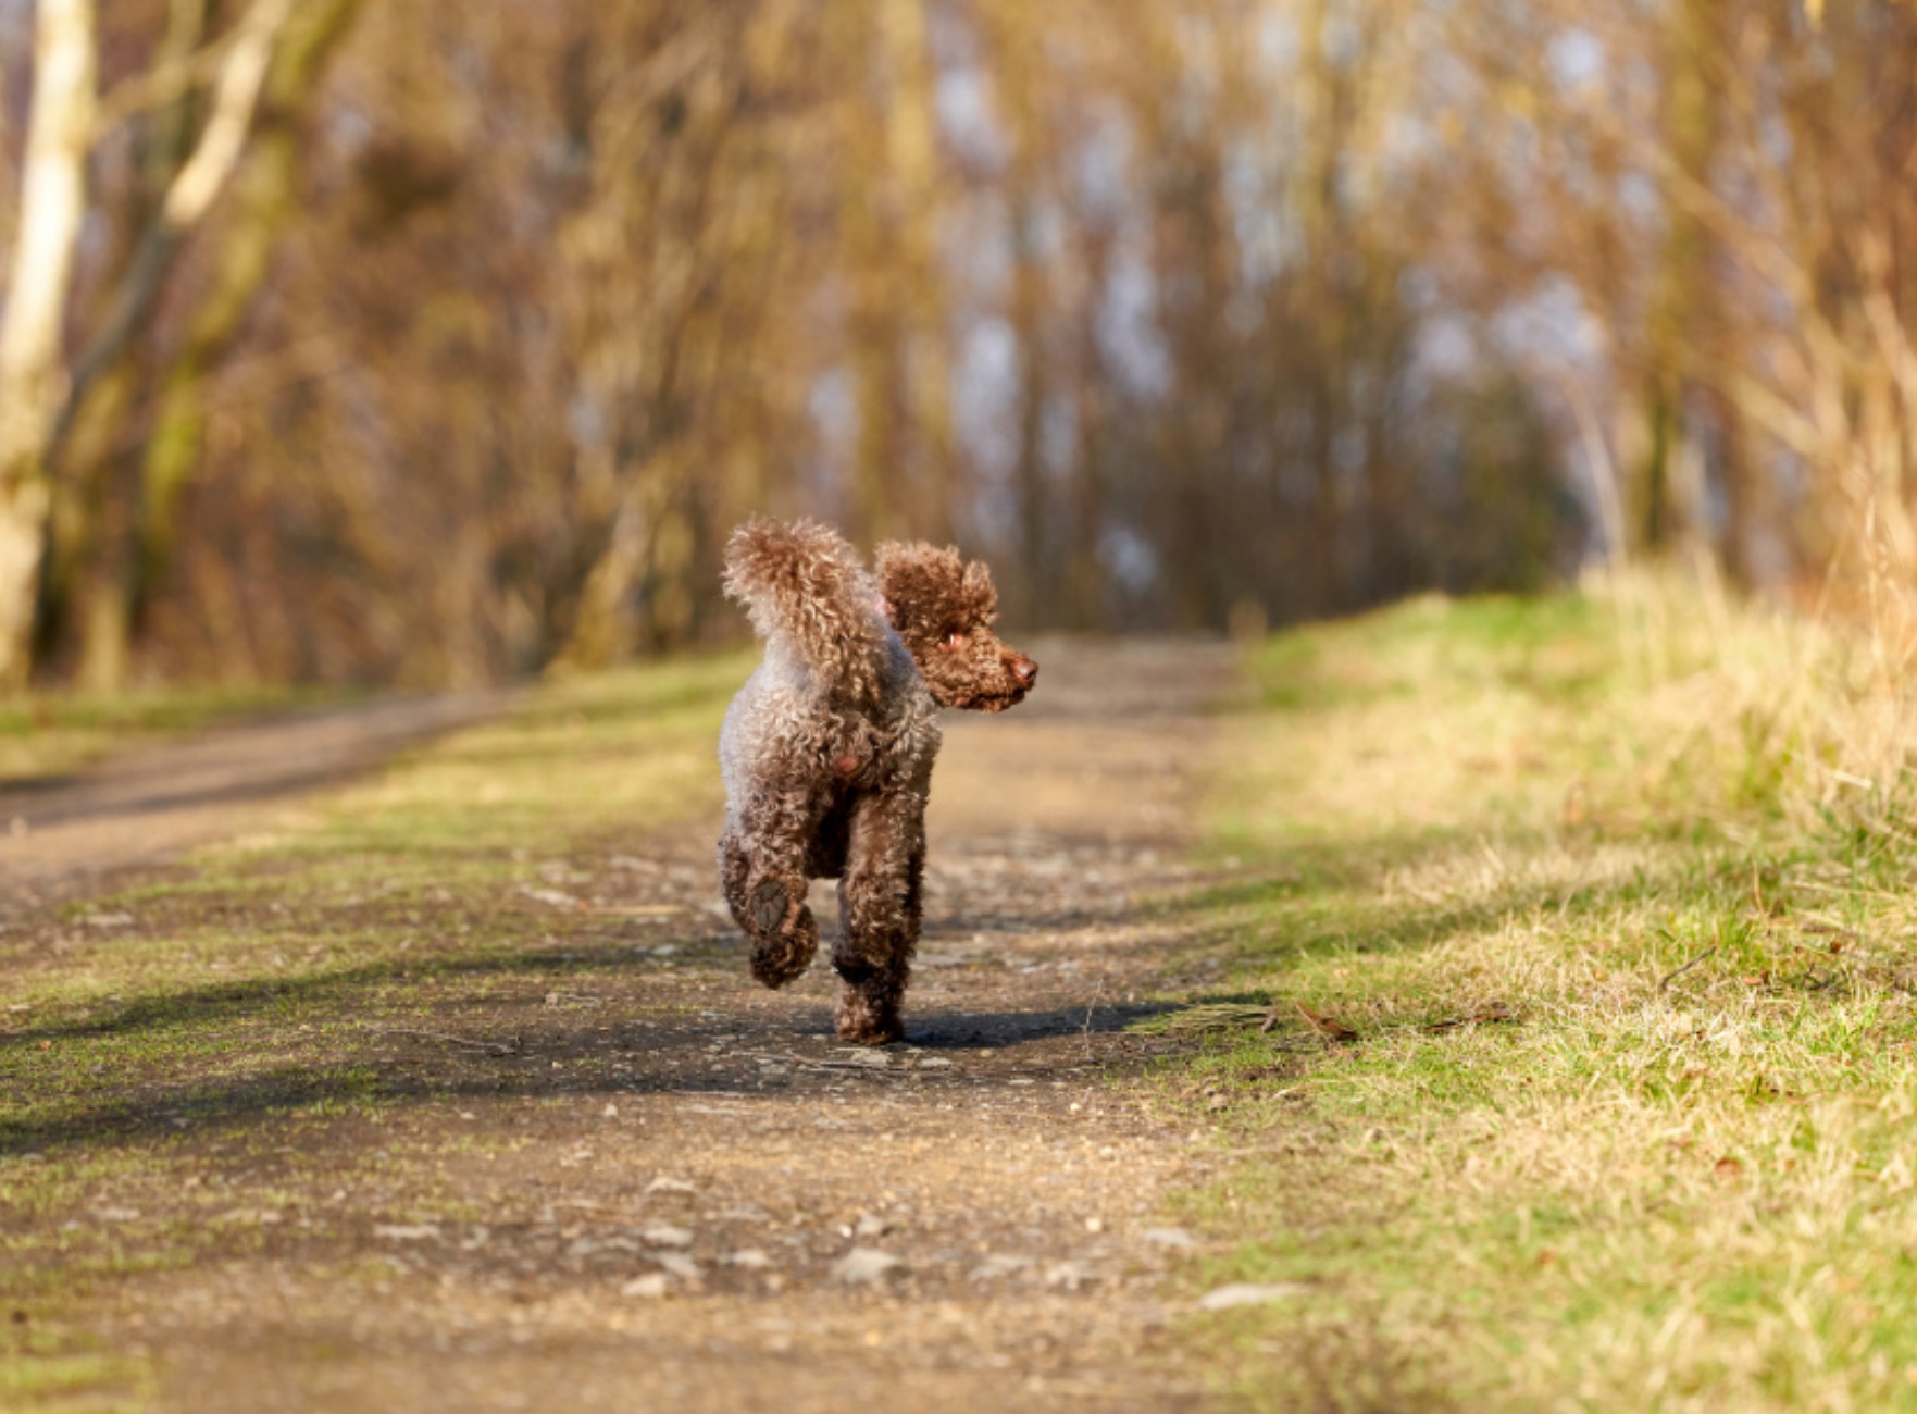
[[61, 324], [94, 125], [94, 0], [38, 0], [19, 238], [0, 324], [0, 689], [25, 687], [50, 501], [46, 451], [65, 399]]

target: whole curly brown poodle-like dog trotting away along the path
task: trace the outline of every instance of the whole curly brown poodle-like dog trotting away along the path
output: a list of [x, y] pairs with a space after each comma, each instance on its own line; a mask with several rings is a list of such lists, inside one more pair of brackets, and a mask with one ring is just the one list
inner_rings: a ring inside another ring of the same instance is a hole
[[751, 938], [751, 975], [784, 986], [811, 965], [805, 884], [838, 879], [838, 1034], [872, 1046], [903, 1034], [937, 710], [1003, 712], [1039, 675], [993, 633], [983, 564], [888, 543], [876, 566], [809, 520], [732, 531], [725, 589], [765, 639], [765, 662], [719, 733], [719, 881]]

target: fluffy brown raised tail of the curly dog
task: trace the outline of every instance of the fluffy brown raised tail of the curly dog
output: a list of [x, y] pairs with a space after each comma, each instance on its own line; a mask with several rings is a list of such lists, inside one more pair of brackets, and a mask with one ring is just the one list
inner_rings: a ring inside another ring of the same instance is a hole
[[727, 541], [725, 591], [746, 606], [759, 637], [790, 643], [851, 696], [878, 695], [886, 647], [878, 587], [838, 531], [753, 516]]

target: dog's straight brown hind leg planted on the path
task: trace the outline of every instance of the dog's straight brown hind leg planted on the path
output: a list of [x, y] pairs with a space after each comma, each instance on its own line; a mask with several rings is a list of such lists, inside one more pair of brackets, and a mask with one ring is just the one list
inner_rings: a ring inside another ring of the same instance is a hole
[[899, 1007], [918, 946], [924, 812], [924, 796], [912, 792], [866, 796], [853, 810], [832, 948], [832, 967], [843, 980], [842, 1040], [882, 1046], [905, 1034]]

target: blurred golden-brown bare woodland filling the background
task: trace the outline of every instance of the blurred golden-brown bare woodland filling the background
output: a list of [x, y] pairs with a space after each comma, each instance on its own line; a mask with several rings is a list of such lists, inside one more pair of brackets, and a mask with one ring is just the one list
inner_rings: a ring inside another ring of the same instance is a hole
[[[8, 317], [36, 21], [92, 2], [0, 0]], [[466, 683], [698, 641], [736, 631], [717, 556], [755, 508], [957, 539], [1020, 627], [1591, 554], [1917, 562], [1909, 0], [90, 19], [59, 380], [0, 439], [42, 675]]]

